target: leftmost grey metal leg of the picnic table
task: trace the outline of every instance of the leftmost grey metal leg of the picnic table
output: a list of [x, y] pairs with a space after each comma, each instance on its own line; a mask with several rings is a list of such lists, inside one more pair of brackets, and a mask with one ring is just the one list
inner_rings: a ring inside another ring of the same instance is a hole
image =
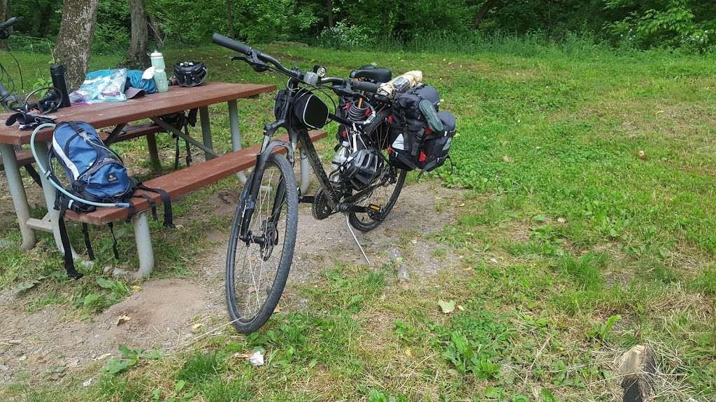
[[35, 232], [27, 225], [27, 220], [30, 219], [30, 207], [27, 205], [27, 195], [17, 165], [15, 149], [12, 145], [0, 144], [0, 153], [2, 154], [7, 184], [8, 187], [10, 187], [12, 203], [15, 207], [15, 213], [17, 214], [17, 222], [20, 225], [20, 232], [22, 233], [22, 244], [20, 248], [22, 250], [28, 250], [35, 245]]

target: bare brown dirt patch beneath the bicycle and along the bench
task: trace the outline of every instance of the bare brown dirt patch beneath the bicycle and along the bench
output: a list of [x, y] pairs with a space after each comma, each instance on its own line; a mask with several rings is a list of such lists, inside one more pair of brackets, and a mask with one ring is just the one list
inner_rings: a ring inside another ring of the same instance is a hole
[[[210, 197], [209, 202], [216, 204], [211, 210], [231, 213], [231, 199], [221, 194]], [[369, 233], [356, 231], [372, 268], [397, 266], [400, 280], [410, 283], [428, 280], [438, 270], [455, 265], [455, 255], [447, 250], [440, 257], [434, 255], [436, 248], [446, 247], [437, 245], [430, 234], [455, 220], [462, 200], [462, 192], [435, 181], [405, 187], [386, 222]], [[11, 208], [9, 200], [1, 204], [4, 210]], [[9, 290], [0, 293], [0, 385], [38, 373], [61, 376], [102, 363], [117, 354], [120, 344], [172, 353], [208, 333], [233, 333], [226, 325], [223, 301], [228, 233], [210, 235], [215, 246], [196, 259], [200, 265], [191, 267], [197, 275], [147, 280], [140, 283], [141, 290], [92, 320], [68, 318], [67, 308], [57, 306], [26, 313], [24, 303]], [[391, 260], [397, 263], [386, 265]], [[301, 205], [294, 264], [281, 308], [308, 307], [305, 300], [294, 298], [291, 285], [309, 281], [335, 264], [364, 263], [344, 215], [314, 220], [310, 205]], [[117, 325], [122, 315], [130, 320]]]

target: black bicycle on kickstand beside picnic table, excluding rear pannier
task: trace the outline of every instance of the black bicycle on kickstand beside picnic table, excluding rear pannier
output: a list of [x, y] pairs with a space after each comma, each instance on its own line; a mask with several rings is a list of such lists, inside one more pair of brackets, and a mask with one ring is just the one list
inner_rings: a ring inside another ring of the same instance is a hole
[[[393, 167], [382, 152], [390, 135], [385, 124], [390, 102], [374, 95], [379, 84], [326, 77], [326, 70], [319, 66], [306, 72], [287, 69], [274, 57], [226, 36], [214, 34], [213, 41], [238, 52], [232, 59], [248, 63], [256, 72], [273, 71], [289, 78], [286, 89], [276, 95], [276, 121], [264, 125], [261, 152], [241, 191], [228, 242], [228, 313], [237, 330], [251, 333], [274, 313], [286, 285], [296, 245], [299, 201], [312, 202], [317, 219], [342, 212], [352, 227], [367, 232], [391, 212], [406, 172]], [[365, 105], [367, 112], [360, 117], [364, 119], [331, 113], [316, 96], [316, 92], [330, 94], [327, 91]], [[349, 149], [345, 160], [339, 160], [327, 174], [309, 129], [321, 129], [329, 121], [346, 127]], [[289, 142], [272, 139], [279, 129], [288, 132]], [[293, 165], [299, 144], [318, 180], [319, 190], [313, 197], [299, 194], [296, 185]], [[281, 148], [285, 157], [275, 152]]]

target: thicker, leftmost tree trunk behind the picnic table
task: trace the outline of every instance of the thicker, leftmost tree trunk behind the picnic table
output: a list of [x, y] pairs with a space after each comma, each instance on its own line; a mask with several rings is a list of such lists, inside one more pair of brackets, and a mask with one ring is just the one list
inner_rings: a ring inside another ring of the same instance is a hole
[[54, 46], [54, 57], [67, 70], [65, 79], [70, 91], [82, 84], [87, 73], [98, 3], [99, 0], [64, 0], [62, 5], [62, 24]]

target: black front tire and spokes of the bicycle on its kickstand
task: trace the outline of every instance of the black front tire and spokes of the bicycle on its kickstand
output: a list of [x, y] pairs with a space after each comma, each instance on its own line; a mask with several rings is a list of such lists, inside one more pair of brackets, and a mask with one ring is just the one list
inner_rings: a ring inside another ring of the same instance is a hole
[[[284, 182], [284, 187], [286, 190], [286, 195], [284, 197], [285, 202], [285, 208], [286, 208], [286, 227], [284, 230], [284, 244], [281, 247], [281, 257], [279, 259], [278, 265], [276, 267], [276, 276], [274, 277], [273, 283], [271, 284], [271, 288], [267, 292], [266, 300], [263, 301], [261, 306], [258, 308], [258, 311], [253, 314], [251, 318], [246, 318], [246, 314], [242, 313], [242, 308], [240, 306], [240, 303], [238, 303], [237, 300], [237, 294], [236, 294], [236, 252], [238, 250], [238, 247], [260, 247], [261, 252], [259, 253], [259, 257], [261, 258], [261, 253], [264, 253], [263, 246], [259, 245], [258, 242], [249, 242], [248, 244], [244, 243], [242, 240], [239, 239], [239, 235], [241, 233], [241, 221], [243, 217], [243, 213], [245, 211], [246, 206], [246, 193], [248, 192], [248, 186], [244, 186], [243, 191], [241, 192], [241, 197], [239, 198], [239, 204], [236, 207], [236, 212], [234, 213], [233, 222], [231, 224], [231, 237], [229, 237], [229, 243], [228, 243], [228, 250], [226, 254], [226, 305], [228, 309], [229, 318], [231, 318], [231, 323], [233, 326], [241, 333], [252, 333], [258, 328], [261, 328], [264, 323], [266, 323], [267, 320], [271, 317], [271, 314], [274, 313], [274, 310], [276, 309], [276, 305], [279, 304], [279, 300], [281, 299], [281, 294], [284, 292], [284, 287], [286, 286], [286, 279], [289, 276], [289, 270], [291, 269], [291, 262], [294, 257], [294, 247], [296, 246], [296, 230], [298, 229], [298, 218], [299, 218], [299, 195], [298, 195], [298, 188], [296, 186], [296, 177], [294, 177], [294, 172], [291, 169], [291, 165], [289, 164], [289, 161], [286, 160], [286, 157], [283, 157], [281, 155], [271, 155], [269, 157], [269, 160], [266, 161], [266, 167], [261, 172], [254, 172], [251, 173], [251, 175], [248, 178], [248, 182], [250, 182], [251, 177], [253, 175], [261, 175], [261, 183], [263, 188], [263, 178], [266, 173], [266, 170], [269, 169], [272, 165], [278, 167], [279, 172], [281, 174], [281, 180]], [[281, 186], [279, 182], [279, 187]], [[270, 187], [270, 185], [269, 185]], [[261, 201], [261, 191], [259, 197], [257, 197], [256, 205], [262, 205], [259, 203]], [[274, 199], [274, 202], [276, 200]], [[273, 207], [273, 204], [272, 204]], [[281, 207], [283, 209], [284, 207]], [[250, 221], [250, 228], [253, 227], [254, 224], [254, 218], [258, 216], [258, 219], [261, 219], [261, 208], [257, 207], [258, 210], [254, 210], [251, 221]], [[268, 211], [268, 209], [267, 209]], [[258, 215], [256, 215], [258, 214]], [[266, 220], [262, 222], [262, 227], [266, 227]], [[276, 233], [279, 232], [279, 229], [274, 228]], [[278, 238], [280, 236], [280, 233], [276, 234], [276, 241], [278, 241]], [[265, 236], [266, 237], [266, 236]], [[265, 240], [265, 239], [264, 239]], [[254, 247], [254, 248], [256, 248]], [[272, 251], [269, 252], [269, 258], [271, 257], [271, 254], [273, 253], [273, 247]], [[249, 258], [248, 250], [246, 251], [246, 258]], [[263, 267], [263, 263], [261, 263], [261, 266]], [[242, 268], [246, 268], [246, 264], [244, 263], [242, 265]], [[251, 269], [251, 265], [249, 266], [249, 269]], [[243, 270], [242, 272], [243, 273]], [[243, 273], [245, 274], [245, 273]], [[253, 273], [251, 274], [253, 278]], [[255, 278], [254, 283], [256, 282]], [[268, 278], [267, 278], [268, 279]], [[259, 283], [261, 283], [261, 278], [259, 278]], [[258, 293], [260, 289], [256, 291], [256, 300], [258, 304]], [[243, 295], [242, 295], [243, 296]]]

